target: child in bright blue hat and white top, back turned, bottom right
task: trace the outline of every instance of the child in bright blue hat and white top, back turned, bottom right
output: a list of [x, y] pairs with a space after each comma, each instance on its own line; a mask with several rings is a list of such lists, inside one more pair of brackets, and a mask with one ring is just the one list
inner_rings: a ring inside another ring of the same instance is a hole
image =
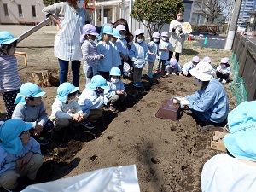
[[228, 154], [217, 154], [205, 163], [201, 173], [203, 192], [255, 191], [255, 108], [256, 101], [242, 102], [229, 113], [230, 134], [224, 136]]

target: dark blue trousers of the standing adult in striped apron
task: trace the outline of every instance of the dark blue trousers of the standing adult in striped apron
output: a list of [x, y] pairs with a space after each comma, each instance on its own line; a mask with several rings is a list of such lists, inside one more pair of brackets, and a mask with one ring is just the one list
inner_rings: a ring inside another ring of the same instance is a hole
[[[67, 82], [69, 61], [59, 60], [60, 65], [60, 84]], [[79, 87], [81, 61], [71, 61], [73, 85]]]

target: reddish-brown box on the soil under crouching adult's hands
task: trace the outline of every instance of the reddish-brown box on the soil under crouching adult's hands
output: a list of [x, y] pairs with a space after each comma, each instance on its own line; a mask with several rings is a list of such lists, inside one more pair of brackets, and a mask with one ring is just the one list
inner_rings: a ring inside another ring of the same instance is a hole
[[155, 113], [155, 117], [163, 118], [163, 119], [171, 119], [171, 120], [178, 120], [181, 117], [181, 108], [180, 104], [174, 104], [171, 100], [165, 100], [160, 108], [158, 109], [157, 113]]

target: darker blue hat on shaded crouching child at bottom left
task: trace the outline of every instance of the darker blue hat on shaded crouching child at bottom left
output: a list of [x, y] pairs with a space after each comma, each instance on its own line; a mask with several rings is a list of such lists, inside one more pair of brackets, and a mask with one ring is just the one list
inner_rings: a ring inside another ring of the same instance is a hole
[[0, 126], [0, 144], [10, 154], [17, 154], [22, 149], [20, 133], [32, 128], [32, 123], [20, 119], [9, 119]]

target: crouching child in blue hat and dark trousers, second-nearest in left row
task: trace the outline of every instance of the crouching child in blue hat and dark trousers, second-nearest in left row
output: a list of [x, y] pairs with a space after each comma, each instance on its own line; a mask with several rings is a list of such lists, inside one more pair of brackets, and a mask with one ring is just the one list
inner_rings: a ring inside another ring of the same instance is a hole
[[37, 84], [30, 82], [22, 84], [15, 99], [17, 105], [12, 115], [12, 119], [21, 119], [32, 123], [32, 137], [41, 145], [49, 143], [44, 135], [53, 128], [53, 123], [48, 119], [41, 98], [44, 94], [45, 92]]

